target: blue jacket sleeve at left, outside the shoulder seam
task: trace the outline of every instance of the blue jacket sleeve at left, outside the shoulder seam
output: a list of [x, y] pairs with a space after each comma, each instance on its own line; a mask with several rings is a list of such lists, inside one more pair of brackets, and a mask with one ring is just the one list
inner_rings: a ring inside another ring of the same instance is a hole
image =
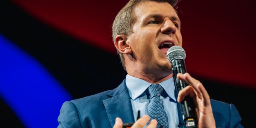
[[58, 123], [58, 128], [81, 128], [78, 111], [72, 102], [66, 101], [62, 104]]

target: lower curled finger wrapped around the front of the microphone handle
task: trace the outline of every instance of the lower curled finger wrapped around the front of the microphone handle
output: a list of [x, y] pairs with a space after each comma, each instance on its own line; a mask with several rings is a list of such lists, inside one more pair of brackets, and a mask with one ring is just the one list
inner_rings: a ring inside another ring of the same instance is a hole
[[192, 86], [186, 86], [185, 88], [183, 88], [182, 90], [179, 91], [178, 93], [178, 98], [177, 101], [178, 102], [182, 102], [184, 100], [184, 98], [186, 96], [190, 96], [190, 97], [194, 97], [196, 96], [194, 89], [192, 88]]

